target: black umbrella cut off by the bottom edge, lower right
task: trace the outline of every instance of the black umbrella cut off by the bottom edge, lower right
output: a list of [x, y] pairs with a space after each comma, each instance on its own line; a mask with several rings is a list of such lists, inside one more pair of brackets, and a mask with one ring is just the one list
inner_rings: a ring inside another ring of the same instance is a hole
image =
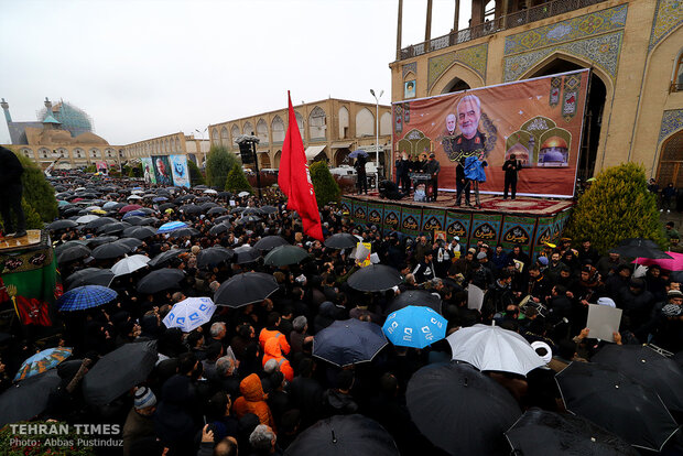
[[506, 432], [514, 454], [524, 456], [638, 456], [615, 434], [582, 416], [528, 410]]

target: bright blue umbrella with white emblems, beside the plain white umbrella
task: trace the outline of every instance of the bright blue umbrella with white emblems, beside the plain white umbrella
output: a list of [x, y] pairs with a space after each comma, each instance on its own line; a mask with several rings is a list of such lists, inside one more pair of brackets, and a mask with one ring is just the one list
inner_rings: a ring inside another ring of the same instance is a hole
[[446, 318], [432, 308], [409, 305], [390, 314], [382, 330], [393, 345], [424, 348], [446, 337]]

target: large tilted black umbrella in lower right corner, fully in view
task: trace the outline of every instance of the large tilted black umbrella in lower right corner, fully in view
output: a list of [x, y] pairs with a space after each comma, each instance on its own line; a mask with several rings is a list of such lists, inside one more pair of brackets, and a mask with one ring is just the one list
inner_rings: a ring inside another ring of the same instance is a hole
[[568, 411], [633, 446], [659, 452], [677, 430], [654, 390], [608, 366], [572, 362], [555, 380]]

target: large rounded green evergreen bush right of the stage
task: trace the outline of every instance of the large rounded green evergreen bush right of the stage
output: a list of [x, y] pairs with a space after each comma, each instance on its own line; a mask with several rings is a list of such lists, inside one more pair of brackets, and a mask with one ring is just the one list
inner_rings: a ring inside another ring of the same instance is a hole
[[579, 197], [565, 235], [590, 239], [601, 254], [629, 238], [652, 239], [664, 248], [657, 198], [648, 192], [644, 167], [625, 163], [603, 171]]

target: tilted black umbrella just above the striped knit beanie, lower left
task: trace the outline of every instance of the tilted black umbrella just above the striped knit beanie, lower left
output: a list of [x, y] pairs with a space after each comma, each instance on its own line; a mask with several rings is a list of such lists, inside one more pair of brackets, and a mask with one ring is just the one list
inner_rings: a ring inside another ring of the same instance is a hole
[[159, 355], [156, 341], [124, 344], [105, 355], [83, 378], [83, 397], [91, 405], [105, 405], [147, 380]]

